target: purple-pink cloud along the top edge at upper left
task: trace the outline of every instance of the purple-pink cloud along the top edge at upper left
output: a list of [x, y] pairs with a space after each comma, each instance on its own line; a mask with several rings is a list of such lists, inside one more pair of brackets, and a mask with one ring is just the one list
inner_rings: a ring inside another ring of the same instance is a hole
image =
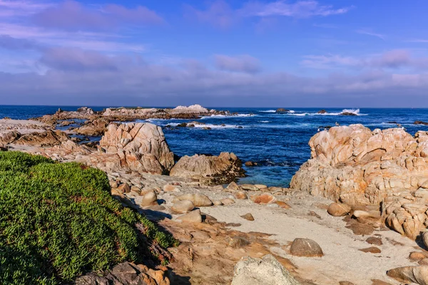
[[93, 9], [74, 0], [66, 0], [58, 6], [40, 11], [33, 20], [39, 26], [71, 31], [108, 30], [123, 24], [163, 24], [161, 16], [144, 6], [127, 9], [107, 4], [101, 9]]

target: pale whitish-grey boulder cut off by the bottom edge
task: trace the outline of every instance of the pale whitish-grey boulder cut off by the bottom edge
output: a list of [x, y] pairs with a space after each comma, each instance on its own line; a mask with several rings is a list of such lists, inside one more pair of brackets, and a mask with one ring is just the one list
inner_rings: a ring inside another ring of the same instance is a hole
[[299, 282], [275, 257], [267, 254], [263, 259], [241, 259], [235, 265], [231, 285], [299, 285]]

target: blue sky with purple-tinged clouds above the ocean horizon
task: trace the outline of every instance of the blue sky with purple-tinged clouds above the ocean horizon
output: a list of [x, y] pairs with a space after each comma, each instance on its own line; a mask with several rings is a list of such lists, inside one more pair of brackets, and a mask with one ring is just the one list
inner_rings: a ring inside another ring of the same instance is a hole
[[0, 0], [0, 105], [428, 108], [428, 1]]

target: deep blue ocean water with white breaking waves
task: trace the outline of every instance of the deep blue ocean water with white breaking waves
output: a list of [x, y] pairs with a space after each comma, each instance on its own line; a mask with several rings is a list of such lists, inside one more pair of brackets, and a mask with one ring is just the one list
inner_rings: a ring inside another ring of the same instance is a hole
[[[70, 106], [1, 106], [0, 118], [27, 119], [55, 113]], [[103, 110], [105, 107], [91, 107]], [[325, 126], [360, 123], [370, 129], [396, 128], [399, 123], [412, 135], [428, 131], [427, 125], [414, 125], [415, 120], [428, 122], [428, 109], [350, 109], [356, 116], [339, 115], [343, 108], [325, 108], [328, 114], [317, 114], [322, 108], [291, 108], [292, 113], [275, 113], [275, 108], [215, 108], [230, 110], [236, 116], [213, 116], [197, 120], [206, 125], [196, 128], [165, 128], [192, 120], [148, 120], [163, 127], [170, 149], [177, 155], [234, 152], [243, 162], [258, 162], [245, 167], [248, 177], [240, 183], [287, 186], [300, 165], [310, 158], [307, 145], [312, 135]], [[290, 108], [289, 108], [290, 109]], [[396, 122], [396, 123], [394, 123]], [[224, 126], [222, 126], [222, 124]], [[203, 130], [210, 127], [211, 130]]]

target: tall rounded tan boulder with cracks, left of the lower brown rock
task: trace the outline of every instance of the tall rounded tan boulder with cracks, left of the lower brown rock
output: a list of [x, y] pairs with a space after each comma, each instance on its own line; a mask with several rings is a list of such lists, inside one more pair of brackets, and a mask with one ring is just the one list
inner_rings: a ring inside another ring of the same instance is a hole
[[162, 128], [149, 123], [110, 124], [100, 147], [106, 152], [104, 157], [118, 159], [117, 167], [134, 172], [165, 174], [174, 165]]

